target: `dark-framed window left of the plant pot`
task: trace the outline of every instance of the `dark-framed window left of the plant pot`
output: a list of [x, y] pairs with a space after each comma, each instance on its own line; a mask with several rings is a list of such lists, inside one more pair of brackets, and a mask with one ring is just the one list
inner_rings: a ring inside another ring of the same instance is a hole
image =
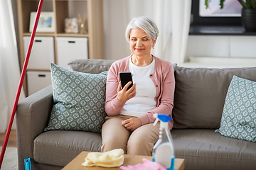
[[241, 8], [238, 0], [213, 0], [206, 9], [205, 0], [192, 0], [191, 24], [194, 26], [242, 26]]

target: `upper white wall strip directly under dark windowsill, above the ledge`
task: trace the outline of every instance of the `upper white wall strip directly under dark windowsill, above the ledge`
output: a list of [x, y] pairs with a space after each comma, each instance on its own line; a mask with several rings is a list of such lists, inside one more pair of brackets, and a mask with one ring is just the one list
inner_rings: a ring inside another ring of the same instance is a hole
[[198, 57], [255, 57], [256, 36], [190, 35], [186, 58]]

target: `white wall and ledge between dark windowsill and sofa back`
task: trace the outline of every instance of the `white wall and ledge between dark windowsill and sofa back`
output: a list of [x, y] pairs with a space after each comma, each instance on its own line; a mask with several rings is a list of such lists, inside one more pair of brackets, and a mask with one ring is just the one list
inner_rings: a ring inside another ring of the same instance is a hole
[[190, 35], [185, 67], [256, 67], [256, 36]]

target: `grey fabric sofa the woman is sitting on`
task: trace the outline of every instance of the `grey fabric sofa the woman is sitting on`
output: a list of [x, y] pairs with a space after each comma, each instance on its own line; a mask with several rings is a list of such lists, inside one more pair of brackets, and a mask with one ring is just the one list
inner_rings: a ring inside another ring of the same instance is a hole
[[[70, 69], [98, 74], [113, 60], [72, 60]], [[185, 159], [185, 169], [255, 169], [256, 143], [225, 137], [215, 132], [233, 75], [256, 81], [256, 67], [187, 68], [174, 66], [174, 140], [176, 158]], [[53, 108], [53, 87], [48, 86], [18, 103], [16, 128], [18, 169], [31, 158], [36, 169], [62, 169], [80, 152], [100, 152], [100, 133], [75, 130], [44, 131]]]

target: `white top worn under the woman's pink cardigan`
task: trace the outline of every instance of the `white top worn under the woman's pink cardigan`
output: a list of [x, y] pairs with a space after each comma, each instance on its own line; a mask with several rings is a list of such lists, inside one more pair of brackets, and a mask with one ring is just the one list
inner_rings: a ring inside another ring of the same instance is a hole
[[156, 108], [156, 87], [150, 79], [153, 73], [155, 60], [146, 67], [138, 67], [132, 63], [132, 57], [129, 61], [129, 70], [132, 73], [132, 81], [136, 84], [136, 96], [130, 98], [120, 112], [122, 115], [132, 115], [139, 117]]

